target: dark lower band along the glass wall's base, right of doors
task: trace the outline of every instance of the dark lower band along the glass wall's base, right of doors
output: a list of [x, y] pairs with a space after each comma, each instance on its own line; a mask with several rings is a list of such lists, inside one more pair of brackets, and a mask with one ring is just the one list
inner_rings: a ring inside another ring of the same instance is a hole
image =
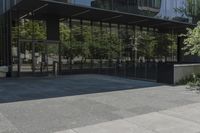
[[[70, 61], [69, 61], [70, 62]], [[85, 61], [62, 63], [62, 74], [94, 73], [129, 78], [157, 80], [156, 62], [117, 61], [87, 59]]]

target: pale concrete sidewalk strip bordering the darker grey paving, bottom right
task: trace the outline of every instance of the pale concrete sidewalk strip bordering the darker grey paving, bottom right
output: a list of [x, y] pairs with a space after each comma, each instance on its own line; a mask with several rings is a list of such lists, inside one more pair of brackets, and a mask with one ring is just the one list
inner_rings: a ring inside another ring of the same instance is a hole
[[200, 133], [200, 103], [56, 133]]

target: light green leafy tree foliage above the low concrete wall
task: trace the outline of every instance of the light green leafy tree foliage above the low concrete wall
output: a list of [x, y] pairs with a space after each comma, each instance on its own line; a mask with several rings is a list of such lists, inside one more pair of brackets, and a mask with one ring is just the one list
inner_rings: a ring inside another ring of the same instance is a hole
[[200, 22], [194, 29], [188, 28], [187, 33], [181, 35], [185, 37], [184, 48], [186, 55], [198, 55], [200, 56]]

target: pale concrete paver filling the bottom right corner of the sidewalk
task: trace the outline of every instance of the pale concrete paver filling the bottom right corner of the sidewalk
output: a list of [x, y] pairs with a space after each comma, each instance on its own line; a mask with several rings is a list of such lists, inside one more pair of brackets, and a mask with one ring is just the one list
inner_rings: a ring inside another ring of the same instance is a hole
[[127, 121], [158, 133], [197, 133], [200, 131], [200, 125], [197, 123], [157, 112], [128, 118]]

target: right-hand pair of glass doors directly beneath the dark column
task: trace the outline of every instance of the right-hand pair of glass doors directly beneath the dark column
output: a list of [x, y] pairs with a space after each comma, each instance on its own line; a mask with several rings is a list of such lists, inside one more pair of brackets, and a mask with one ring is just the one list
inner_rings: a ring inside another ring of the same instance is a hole
[[57, 41], [44, 41], [35, 44], [34, 73], [35, 75], [49, 76], [58, 72], [59, 43]]

